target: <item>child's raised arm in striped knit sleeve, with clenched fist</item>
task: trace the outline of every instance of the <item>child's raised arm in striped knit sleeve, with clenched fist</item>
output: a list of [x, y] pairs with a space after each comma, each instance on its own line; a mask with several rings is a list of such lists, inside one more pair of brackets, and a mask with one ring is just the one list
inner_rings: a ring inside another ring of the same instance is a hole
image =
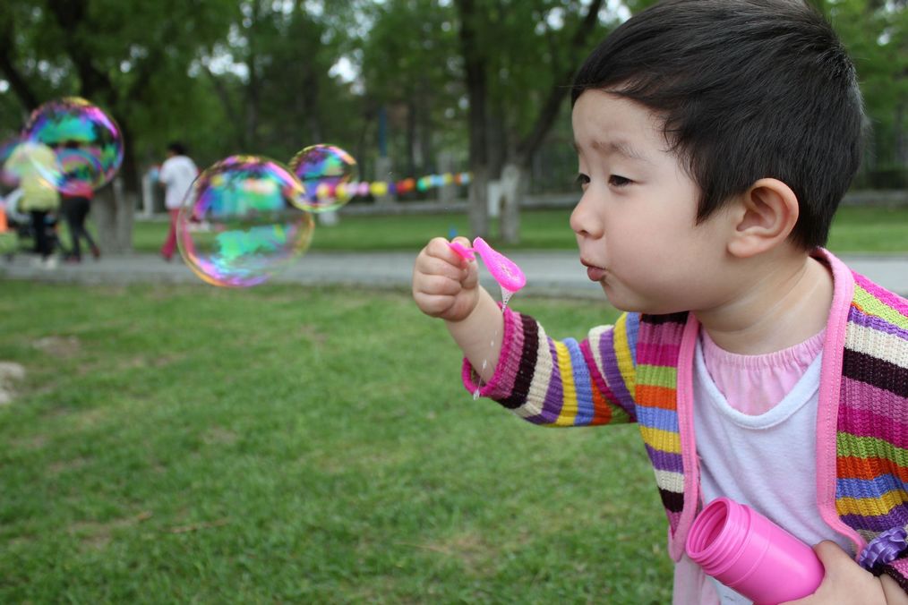
[[[466, 240], [464, 240], [465, 243]], [[437, 238], [413, 268], [413, 298], [446, 320], [463, 350], [464, 386], [533, 424], [588, 426], [636, 420], [638, 317], [598, 326], [587, 338], [554, 340], [528, 315], [502, 309], [479, 286], [477, 265]]]

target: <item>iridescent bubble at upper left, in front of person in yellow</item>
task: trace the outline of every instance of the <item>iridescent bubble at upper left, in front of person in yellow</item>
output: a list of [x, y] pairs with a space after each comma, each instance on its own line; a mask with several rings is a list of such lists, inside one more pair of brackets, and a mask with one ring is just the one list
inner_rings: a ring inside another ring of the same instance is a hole
[[54, 167], [39, 167], [44, 180], [65, 195], [84, 195], [110, 182], [123, 163], [123, 135], [114, 119], [78, 97], [46, 102], [32, 112], [24, 141], [51, 147]]

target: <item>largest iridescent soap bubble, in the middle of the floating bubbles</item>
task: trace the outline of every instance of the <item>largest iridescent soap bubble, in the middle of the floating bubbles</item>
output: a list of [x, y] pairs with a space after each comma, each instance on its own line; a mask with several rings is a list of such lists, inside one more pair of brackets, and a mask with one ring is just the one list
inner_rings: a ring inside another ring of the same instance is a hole
[[276, 161], [232, 155], [202, 171], [177, 216], [183, 260], [214, 286], [255, 286], [299, 258], [315, 221], [301, 182]]

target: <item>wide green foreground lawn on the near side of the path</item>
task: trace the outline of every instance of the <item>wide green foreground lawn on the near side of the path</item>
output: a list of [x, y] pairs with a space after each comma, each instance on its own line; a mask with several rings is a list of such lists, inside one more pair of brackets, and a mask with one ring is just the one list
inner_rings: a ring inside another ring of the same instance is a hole
[[636, 428], [474, 401], [404, 293], [0, 288], [0, 602], [670, 599]]

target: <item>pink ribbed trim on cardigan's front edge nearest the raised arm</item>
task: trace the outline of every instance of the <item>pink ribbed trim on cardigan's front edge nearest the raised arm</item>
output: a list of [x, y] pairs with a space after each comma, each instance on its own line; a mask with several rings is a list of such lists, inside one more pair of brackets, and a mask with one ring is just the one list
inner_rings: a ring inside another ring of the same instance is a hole
[[681, 439], [681, 464], [684, 468], [684, 509], [678, 519], [675, 536], [669, 540], [668, 553], [675, 561], [684, 555], [687, 531], [694, 522], [699, 507], [700, 463], [696, 457], [694, 438], [694, 352], [696, 337], [700, 333], [700, 322], [693, 313], [687, 315], [687, 323], [678, 346], [676, 380], [678, 431]]

